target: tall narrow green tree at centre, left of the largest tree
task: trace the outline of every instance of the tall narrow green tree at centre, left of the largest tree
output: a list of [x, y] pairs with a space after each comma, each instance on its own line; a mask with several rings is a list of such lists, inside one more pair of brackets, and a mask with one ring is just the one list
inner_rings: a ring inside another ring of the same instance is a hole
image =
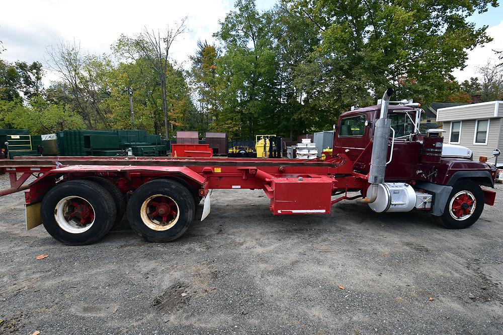
[[215, 34], [225, 51], [217, 61], [222, 111], [215, 127], [251, 140], [279, 122], [279, 62], [270, 13], [259, 13], [255, 2], [239, 0], [235, 6]]

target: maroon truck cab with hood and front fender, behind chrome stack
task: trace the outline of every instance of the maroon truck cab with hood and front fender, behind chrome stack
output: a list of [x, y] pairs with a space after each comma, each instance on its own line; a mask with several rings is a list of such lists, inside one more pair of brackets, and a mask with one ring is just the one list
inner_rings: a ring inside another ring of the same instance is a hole
[[[380, 105], [343, 113], [333, 137], [333, 154], [346, 154], [353, 160], [354, 172], [368, 175], [372, 157], [374, 123], [379, 118]], [[467, 158], [443, 157], [443, 138], [421, 136], [418, 130], [421, 109], [404, 105], [389, 105], [391, 119], [388, 142], [388, 163], [385, 182], [405, 182], [434, 195], [432, 213], [442, 215], [446, 201], [461, 183], [476, 184], [484, 202], [492, 205], [496, 168], [493, 164]], [[420, 140], [420, 138], [422, 138]], [[454, 187], [455, 186], [455, 187]], [[470, 192], [473, 193], [473, 192]], [[452, 210], [452, 209], [450, 209]]]

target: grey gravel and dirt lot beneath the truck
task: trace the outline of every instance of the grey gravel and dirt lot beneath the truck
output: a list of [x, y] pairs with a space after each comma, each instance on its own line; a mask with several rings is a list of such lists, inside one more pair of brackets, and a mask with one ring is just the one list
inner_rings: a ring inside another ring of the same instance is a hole
[[85, 247], [27, 232], [22, 193], [0, 200], [1, 334], [503, 333], [501, 185], [462, 231], [354, 202], [273, 216], [262, 191], [216, 190], [176, 242], [123, 221]]

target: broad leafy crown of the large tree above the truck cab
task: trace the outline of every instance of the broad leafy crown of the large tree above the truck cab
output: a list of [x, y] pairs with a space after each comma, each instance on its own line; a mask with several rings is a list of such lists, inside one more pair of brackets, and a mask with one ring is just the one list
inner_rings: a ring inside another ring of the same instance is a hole
[[451, 71], [465, 66], [467, 50], [491, 40], [487, 27], [467, 20], [487, 6], [497, 2], [295, 0], [293, 11], [321, 37], [296, 83], [338, 109], [375, 103], [389, 86], [398, 97], [430, 102], [446, 95]]

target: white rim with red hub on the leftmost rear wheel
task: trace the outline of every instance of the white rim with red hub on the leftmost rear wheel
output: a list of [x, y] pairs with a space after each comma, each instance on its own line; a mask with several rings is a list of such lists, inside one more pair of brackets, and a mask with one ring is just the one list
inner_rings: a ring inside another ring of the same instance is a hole
[[93, 227], [95, 210], [86, 199], [79, 196], [67, 196], [56, 204], [54, 218], [63, 231], [81, 234]]

